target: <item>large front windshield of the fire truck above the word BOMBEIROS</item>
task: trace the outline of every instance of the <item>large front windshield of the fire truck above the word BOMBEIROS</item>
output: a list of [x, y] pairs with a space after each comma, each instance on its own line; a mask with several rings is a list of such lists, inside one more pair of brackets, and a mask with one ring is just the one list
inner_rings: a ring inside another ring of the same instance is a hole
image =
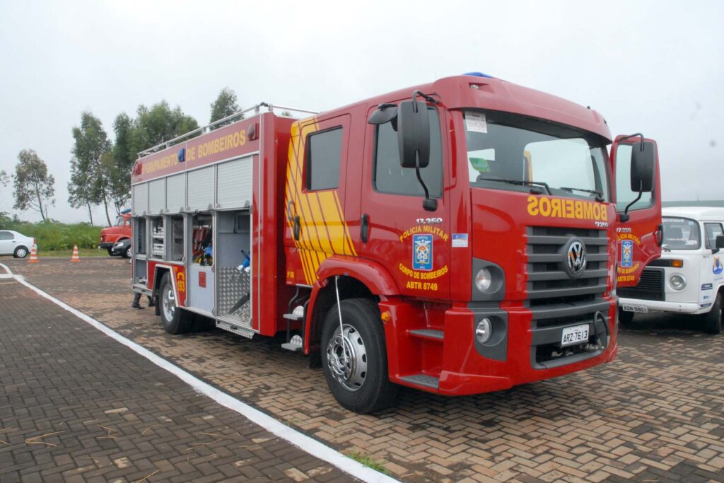
[[610, 199], [607, 141], [599, 135], [509, 112], [463, 114], [473, 188]]

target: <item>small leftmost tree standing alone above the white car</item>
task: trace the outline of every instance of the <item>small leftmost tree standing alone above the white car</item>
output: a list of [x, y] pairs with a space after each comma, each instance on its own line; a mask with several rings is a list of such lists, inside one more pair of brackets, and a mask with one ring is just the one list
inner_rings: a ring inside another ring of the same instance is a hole
[[45, 161], [32, 149], [20, 151], [17, 160], [12, 177], [15, 188], [13, 208], [38, 211], [44, 222], [48, 217], [48, 204], [55, 204], [55, 178], [48, 174]]

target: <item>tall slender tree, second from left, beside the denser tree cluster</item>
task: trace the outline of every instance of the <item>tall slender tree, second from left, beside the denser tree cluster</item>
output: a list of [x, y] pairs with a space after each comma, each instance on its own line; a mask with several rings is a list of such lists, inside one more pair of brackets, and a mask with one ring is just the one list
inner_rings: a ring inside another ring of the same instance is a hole
[[[111, 152], [111, 141], [108, 140], [101, 119], [87, 111], [80, 114], [80, 127], [73, 127], [73, 138], [75, 146], [72, 148], [72, 154], [75, 169], [83, 175], [75, 177], [75, 181], [71, 177], [71, 182], [75, 186], [72, 191], [74, 193], [85, 191], [80, 195], [81, 200], [103, 203], [106, 220], [111, 224], [108, 213], [111, 201], [109, 187], [111, 174], [101, 164], [103, 157]], [[85, 187], [80, 185], [82, 182], [85, 182]]]

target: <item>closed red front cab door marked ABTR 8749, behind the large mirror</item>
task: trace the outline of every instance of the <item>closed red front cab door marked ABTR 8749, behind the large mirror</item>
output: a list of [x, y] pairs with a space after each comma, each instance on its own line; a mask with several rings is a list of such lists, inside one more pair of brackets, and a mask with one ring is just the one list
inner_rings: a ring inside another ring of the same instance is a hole
[[[369, 110], [368, 118], [375, 110]], [[428, 114], [430, 162], [420, 172], [430, 198], [437, 200], [437, 209], [423, 208], [424, 189], [415, 169], [400, 166], [392, 121], [368, 124], [361, 169], [360, 252], [382, 264], [403, 294], [447, 298], [451, 274], [449, 194], [445, 191], [449, 163], [442, 134], [445, 114], [432, 105]]]

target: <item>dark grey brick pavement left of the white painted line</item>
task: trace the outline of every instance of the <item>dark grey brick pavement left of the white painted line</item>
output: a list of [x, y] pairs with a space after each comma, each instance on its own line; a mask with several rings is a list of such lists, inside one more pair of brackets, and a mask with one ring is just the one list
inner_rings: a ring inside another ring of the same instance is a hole
[[2, 483], [350, 481], [7, 279], [0, 384]]

